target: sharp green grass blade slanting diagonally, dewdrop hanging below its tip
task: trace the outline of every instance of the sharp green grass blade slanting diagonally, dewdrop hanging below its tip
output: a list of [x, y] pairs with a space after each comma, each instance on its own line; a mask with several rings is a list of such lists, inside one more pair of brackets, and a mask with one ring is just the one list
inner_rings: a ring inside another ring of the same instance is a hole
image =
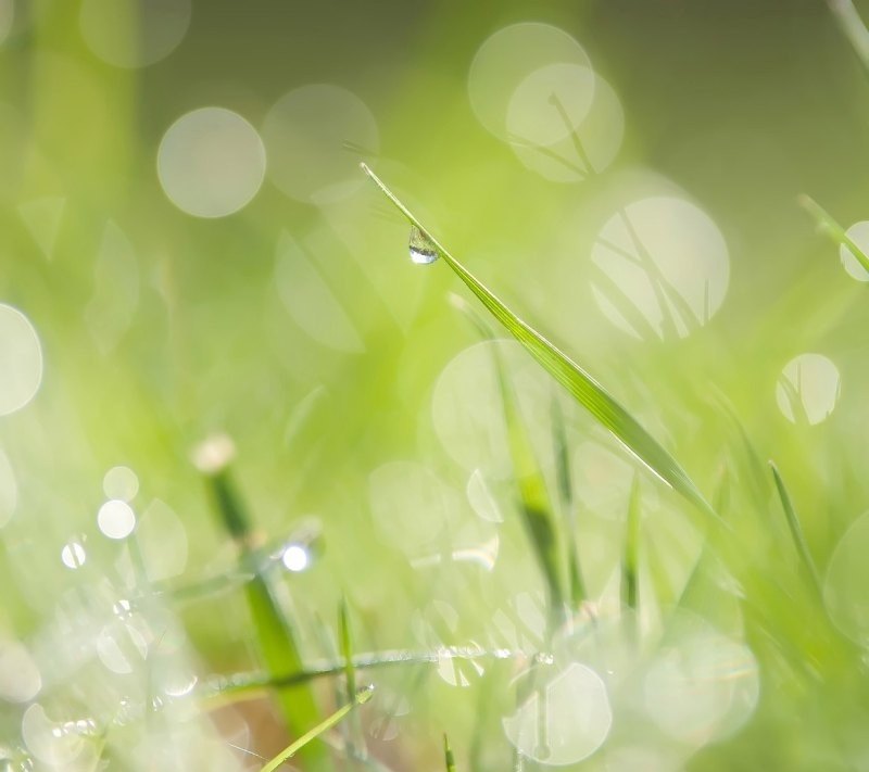
[[522, 321], [502, 303], [482, 282], [474, 277], [464, 265], [453, 257], [395, 194], [380, 180], [368, 166], [362, 169], [377, 185], [383, 194], [399, 208], [411, 225], [428, 238], [444, 262], [477, 295], [480, 302], [502, 324], [538, 363], [558, 381], [594, 418], [608, 429], [625, 446], [633, 453], [651, 471], [671, 485], [688, 501], [704, 512], [717, 518], [715, 510], [703, 497], [697, 486], [664, 447], [631, 416], [609, 393], [585, 370], [555, 347], [550, 341]]

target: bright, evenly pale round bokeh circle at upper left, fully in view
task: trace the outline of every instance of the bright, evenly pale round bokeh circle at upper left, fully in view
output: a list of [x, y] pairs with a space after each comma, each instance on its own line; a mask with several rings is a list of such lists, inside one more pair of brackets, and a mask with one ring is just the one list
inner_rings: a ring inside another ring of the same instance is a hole
[[200, 107], [178, 118], [158, 150], [163, 191], [196, 217], [225, 217], [256, 195], [265, 176], [256, 129], [225, 107]]

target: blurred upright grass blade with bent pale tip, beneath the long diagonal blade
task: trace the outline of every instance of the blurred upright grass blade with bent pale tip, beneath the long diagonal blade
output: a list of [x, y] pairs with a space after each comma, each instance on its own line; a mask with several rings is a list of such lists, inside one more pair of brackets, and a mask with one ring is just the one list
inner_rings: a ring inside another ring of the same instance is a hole
[[565, 595], [562, 583], [561, 549], [558, 530], [554, 521], [554, 510], [546, 490], [543, 471], [537, 461], [531, 439], [525, 426], [513, 383], [507, 375], [498, 340], [483, 319], [464, 300], [455, 299], [454, 304], [474, 322], [481, 334], [492, 342], [495, 377], [501, 392], [504, 409], [504, 423], [507, 429], [507, 445], [513, 461], [513, 472], [519, 489], [519, 506], [525, 529], [537, 556], [550, 600], [550, 622], [557, 624], [565, 616]]

